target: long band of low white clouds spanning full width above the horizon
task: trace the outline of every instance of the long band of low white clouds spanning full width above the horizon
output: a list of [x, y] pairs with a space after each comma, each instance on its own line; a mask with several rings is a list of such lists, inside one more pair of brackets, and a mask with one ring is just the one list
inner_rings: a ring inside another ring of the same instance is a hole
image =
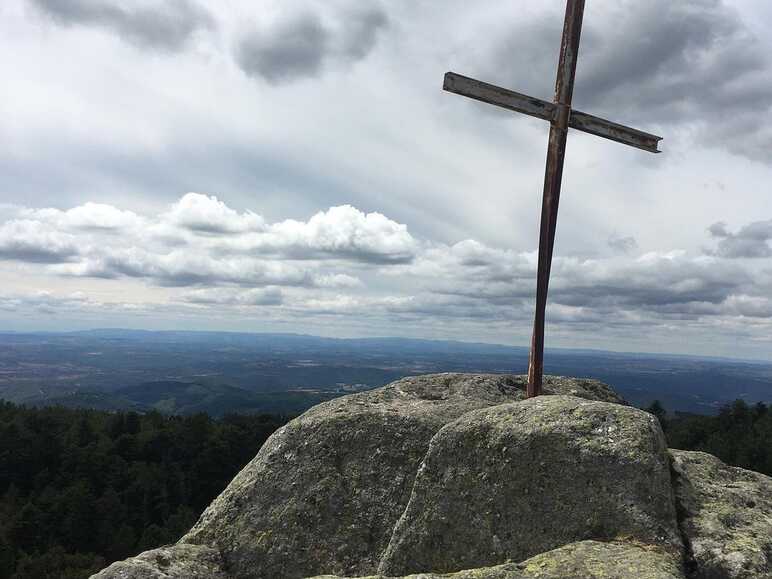
[[[216, 309], [278, 323], [347, 320], [369, 327], [523, 335], [533, 317], [535, 252], [472, 239], [417, 240], [405, 225], [352, 206], [276, 223], [196, 193], [157, 215], [96, 204], [8, 211], [0, 224], [0, 261], [27, 262], [67, 278], [138, 280], [163, 292], [166, 301], [0, 296], [4, 312], [203, 316]], [[752, 223], [733, 234], [717, 223], [709, 230], [721, 246], [735, 239], [767, 240], [768, 227]], [[184, 243], [170, 244], [174, 236]], [[759, 339], [772, 331], [772, 279], [747, 260], [724, 259], [721, 252], [641, 254], [632, 243], [622, 245], [625, 251], [607, 257], [555, 256], [551, 328], [628, 337], [674, 327], [730, 328]]]

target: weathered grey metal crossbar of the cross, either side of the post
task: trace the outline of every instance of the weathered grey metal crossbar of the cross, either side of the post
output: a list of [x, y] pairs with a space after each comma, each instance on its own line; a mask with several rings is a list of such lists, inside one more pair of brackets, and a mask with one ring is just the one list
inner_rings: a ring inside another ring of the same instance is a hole
[[[557, 115], [558, 111], [558, 107], [554, 103], [461, 76], [454, 72], [445, 73], [445, 83], [442, 88], [455, 94], [545, 121], [555, 120], [555, 115]], [[612, 141], [643, 149], [650, 153], [660, 152], [657, 146], [662, 137], [644, 133], [638, 129], [613, 123], [577, 110], [571, 110], [568, 126], [577, 131], [590, 133], [604, 139], [611, 139]]]

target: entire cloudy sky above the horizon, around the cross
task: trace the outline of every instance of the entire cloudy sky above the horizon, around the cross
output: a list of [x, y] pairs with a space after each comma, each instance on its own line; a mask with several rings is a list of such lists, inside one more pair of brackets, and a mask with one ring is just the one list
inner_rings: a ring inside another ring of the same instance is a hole
[[[0, 329], [529, 342], [561, 0], [3, 0]], [[772, 3], [589, 0], [547, 347], [772, 360]]]

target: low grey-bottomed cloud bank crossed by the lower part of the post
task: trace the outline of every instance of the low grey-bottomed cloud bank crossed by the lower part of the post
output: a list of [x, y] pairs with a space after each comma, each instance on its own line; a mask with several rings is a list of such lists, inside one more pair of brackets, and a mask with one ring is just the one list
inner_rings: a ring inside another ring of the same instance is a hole
[[[482, 254], [484, 248], [474, 244], [460, 250], [460, 245], [446, 248], [444, 260], [435, 256], [443, 266], [427, 270], [433, 292], [498, 307], [519, 308], [532, 303], [535, 274], [522, 257], [499, 251], [496, 259], [470, 261], [470, 256]], [[488, 251], [493, 257], [494, 250]], [[419, 263], [414, 269], [420, 267]], [[732, 301], [743, 304], [746, 311], [767, 311], [766, 302], [760, 306], [754, 301], [763, 297], [757, 276], [737, 263], [715, 258], [679, 253], [647, 254], [637, 259], [558, 257], [552, 270], [551, 307], [572, 319], [616, 318], [620, 312], [657, 319], [723, 315], [738, 311], [737, 307], [728, 308]], [[741, 297], [744, 301], [738, 301]]]

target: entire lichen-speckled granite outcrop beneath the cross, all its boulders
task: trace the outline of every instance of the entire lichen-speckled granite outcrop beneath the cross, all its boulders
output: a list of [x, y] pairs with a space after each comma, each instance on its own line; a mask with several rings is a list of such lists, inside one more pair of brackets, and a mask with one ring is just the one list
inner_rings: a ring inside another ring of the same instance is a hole
[[595, 380], [436, 374], [278, 430], [174, 545], [93, 579], [772, 578], [772, 479]]

